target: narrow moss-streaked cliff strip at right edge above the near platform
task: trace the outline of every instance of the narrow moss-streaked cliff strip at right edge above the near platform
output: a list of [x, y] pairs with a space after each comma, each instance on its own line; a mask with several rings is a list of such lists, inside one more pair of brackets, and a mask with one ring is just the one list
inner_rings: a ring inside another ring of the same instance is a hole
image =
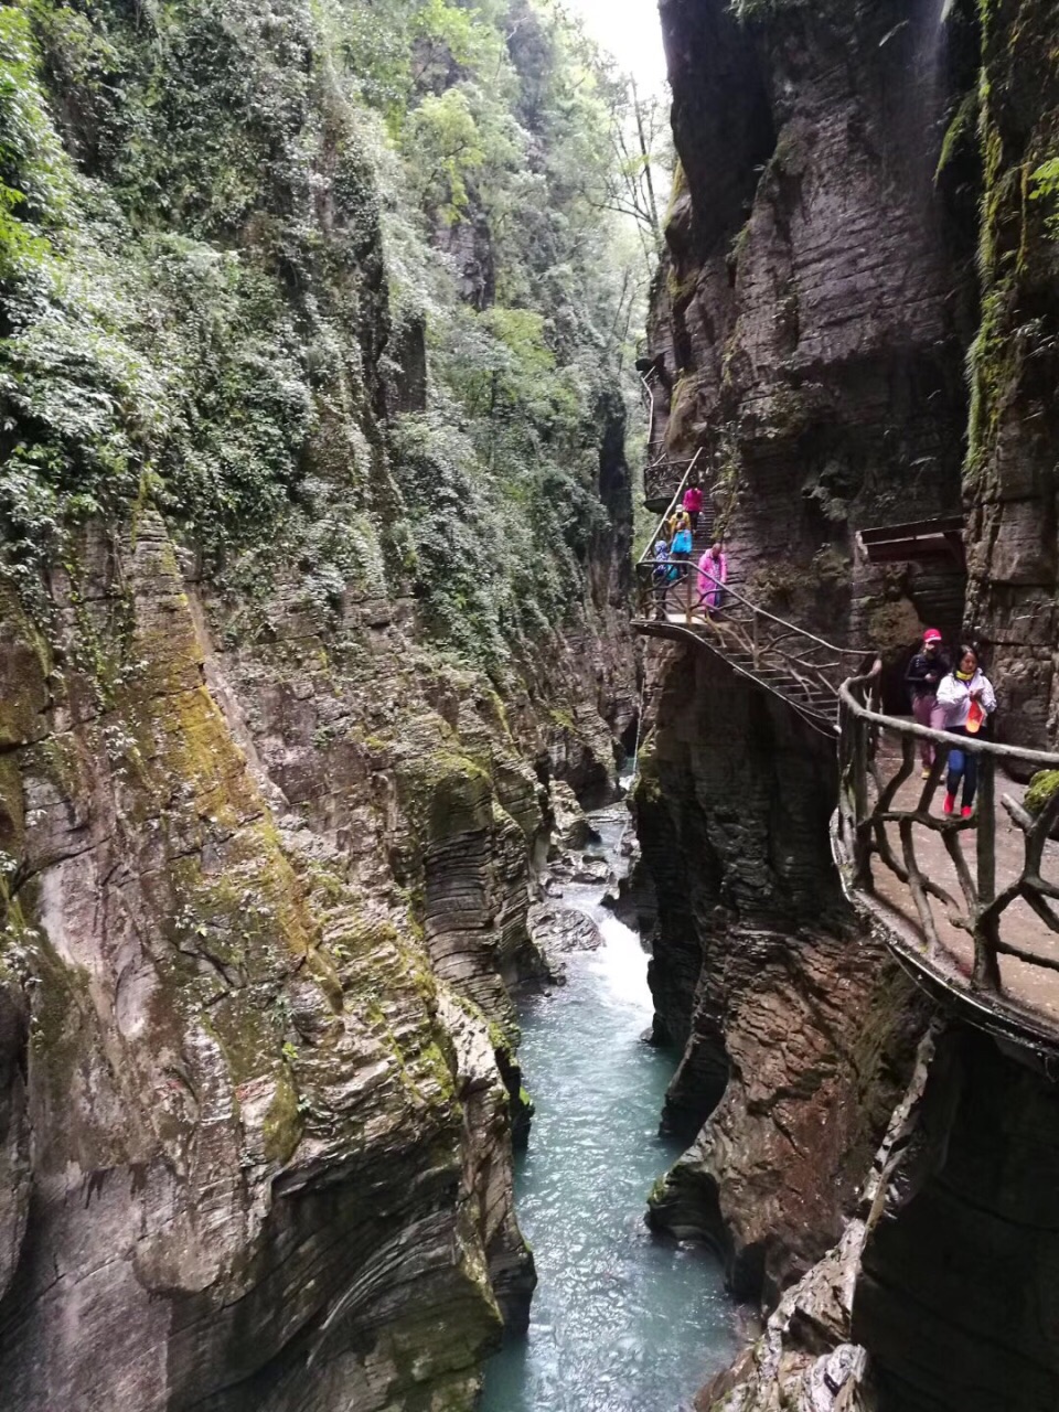
[[969, 620], [995, 644], [1000, 730], [1056, 740], [1056, 455], [1059, 226], [1046, 171], [1059, 144], [1056, 20], [1048, 4], [983, 16], [980, 265], [970, 354]]

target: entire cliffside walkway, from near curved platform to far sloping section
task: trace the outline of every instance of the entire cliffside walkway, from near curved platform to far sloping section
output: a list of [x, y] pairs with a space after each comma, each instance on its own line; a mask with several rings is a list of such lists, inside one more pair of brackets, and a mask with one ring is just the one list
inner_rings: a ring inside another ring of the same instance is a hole
[[[1059, 834], [1059, 754], [964, 740], [962, 748], [979, 757], [976, 810], [970, 819], [943, 815], [953, 737], [884, 716], [874, 709], [880, 664], [871, 655], [784, 621], [731, 580], [726, 607], [712, 617], [696, 565], [712, 538], [710, 507], [686, 576], [665, 594], [654, 583], [652, 542], [637, 566], [634, 627], [716, 655], [836, 738], [842, 782], [832, 843], [847, 897], [882, 925], [890, 947], [935, 998], [1051, 1063], [1059, 1051], [1059, 842], [1051, 837]], [[929, 779], [921, 777], [923, 740], [935, 751]], [[1032, 813], [1015, 777], [1041, 770], [1058, 772], [1058, 788]]]

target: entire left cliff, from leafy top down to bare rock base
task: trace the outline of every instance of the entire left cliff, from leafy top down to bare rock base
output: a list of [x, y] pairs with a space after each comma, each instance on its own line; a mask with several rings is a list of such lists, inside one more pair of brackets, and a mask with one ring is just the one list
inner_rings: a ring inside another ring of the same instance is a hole
[[508, 987], [548, 786], [634, 714], [623, 414], [487, 674], [501, 548], [321, 13], [0, 17], [48, 236], [0, 222], [6, 1412], [455, 1412], [527, 1315]]

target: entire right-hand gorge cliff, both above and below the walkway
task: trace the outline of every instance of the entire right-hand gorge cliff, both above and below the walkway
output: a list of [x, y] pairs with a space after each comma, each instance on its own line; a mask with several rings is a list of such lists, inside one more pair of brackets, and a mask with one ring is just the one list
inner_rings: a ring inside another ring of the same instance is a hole
[[[652, 308], [669, 446], [713, 452], [755, 597], [884, 651], [926, 618], [976, 627], [1001, 733], [1043, 746], [1055, 7], [734, 10], [661, 4], [683, 168]], [[851, 552], [860, 525], [962, 504], [966, 602], [956, 573]], [[683, 1046], [668, 1118], [696, 1135], [654, 1219], [770, 1302], [812, 1265], [699, 1405], [1051, 1406], [1052, 1086], [957, 1024], [914, 1063], [928, 1008], [834, 905], [829, 747], [705, 657], [658, 678], [638, 820], [657, 1029]]]

